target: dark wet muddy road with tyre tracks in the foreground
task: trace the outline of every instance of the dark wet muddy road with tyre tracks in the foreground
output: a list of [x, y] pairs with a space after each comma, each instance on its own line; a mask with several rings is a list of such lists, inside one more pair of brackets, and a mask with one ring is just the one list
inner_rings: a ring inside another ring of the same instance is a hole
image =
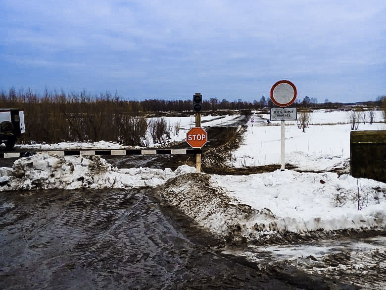
[[0, 289], [298, 289], [149, 189], [0, 193]]

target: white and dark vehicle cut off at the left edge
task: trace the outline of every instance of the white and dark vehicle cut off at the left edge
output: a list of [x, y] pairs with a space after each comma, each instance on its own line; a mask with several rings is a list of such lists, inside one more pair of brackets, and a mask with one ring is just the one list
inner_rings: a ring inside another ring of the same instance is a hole
[[24, 111], [22, 109], [0, 109], [0, 144], [8, 150], [15, 146], [16, 138], [25, 133]]

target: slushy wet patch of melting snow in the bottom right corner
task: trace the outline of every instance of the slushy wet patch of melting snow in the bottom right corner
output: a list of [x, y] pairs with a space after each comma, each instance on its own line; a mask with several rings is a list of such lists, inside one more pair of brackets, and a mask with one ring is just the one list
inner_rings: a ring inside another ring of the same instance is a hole
[[322, 240], [297, 245], [249, 246], [224, 254], [246, 257], [268, 270], [289, 267], [362, 289], [386, 289], [386, 236]]

